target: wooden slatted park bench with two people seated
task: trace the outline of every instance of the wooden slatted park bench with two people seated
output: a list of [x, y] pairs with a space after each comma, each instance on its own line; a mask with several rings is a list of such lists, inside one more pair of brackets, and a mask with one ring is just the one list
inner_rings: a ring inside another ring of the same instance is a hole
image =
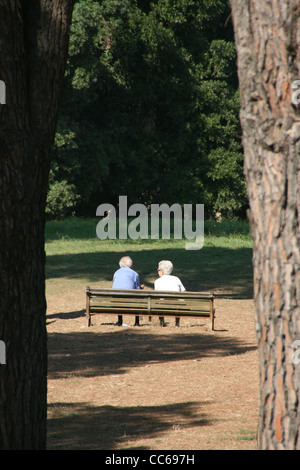
[[120, 290], [100, 287], [86, 288], [86, 317], [91, 325], [92, 314], [115, 313], [135, 315], [138, 324], [139, 315], [156, 315], [163, 324], [165, 316], [175, 317], [179, 326], [180, 317], [209, 317], [211, 329], [214, 329], [214, 294], [204, 292], [165, 292], [155, 290]]

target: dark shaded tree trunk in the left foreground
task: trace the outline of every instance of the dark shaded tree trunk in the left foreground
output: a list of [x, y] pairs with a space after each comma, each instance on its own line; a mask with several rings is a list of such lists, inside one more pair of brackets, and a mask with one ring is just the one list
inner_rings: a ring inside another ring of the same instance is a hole
[[70, 0], [0, 0], [0, 448], [46, 446], [44, 214]]

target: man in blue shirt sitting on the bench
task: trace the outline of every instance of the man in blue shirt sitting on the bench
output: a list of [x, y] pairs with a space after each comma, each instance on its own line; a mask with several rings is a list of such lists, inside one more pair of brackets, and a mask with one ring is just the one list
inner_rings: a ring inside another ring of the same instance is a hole
[[[120, 268], [113, 276], [113, 289], [143, 289], [144, 285], [140, 284], [140, 277], [133, 270], [133, 262], [129, 256], [123, 256], [119, 262]], [[123, 324], [122, 315], [118, 316], [117, 325]], [[135, 326], [139, 325], [139, 317], [135, 317]]]

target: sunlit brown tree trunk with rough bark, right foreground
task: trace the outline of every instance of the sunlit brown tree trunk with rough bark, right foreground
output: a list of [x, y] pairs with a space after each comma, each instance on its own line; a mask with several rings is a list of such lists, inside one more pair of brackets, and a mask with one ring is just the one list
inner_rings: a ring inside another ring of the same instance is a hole
[[231, 0], [254, 240], [259, 446], [300, 449], [300, 116], [298, 0]]

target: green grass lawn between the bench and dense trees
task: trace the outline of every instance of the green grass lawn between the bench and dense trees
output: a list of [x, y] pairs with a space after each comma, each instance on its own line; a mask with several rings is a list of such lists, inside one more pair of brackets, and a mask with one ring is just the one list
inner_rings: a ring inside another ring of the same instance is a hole
[[169, 259], [173, 274], [190, 291], [252, 298], [252, 239], [246, 222], [206, 222], [204, 246], [186, 250], [184, 240], [99, 240], [98, 219], [72, 217], [46, 225], [47, 291], [55, 293], [70, 283], [111, 287], [121, 256], [132, 257], [146, 288], [152, 288], [157, 264]]

